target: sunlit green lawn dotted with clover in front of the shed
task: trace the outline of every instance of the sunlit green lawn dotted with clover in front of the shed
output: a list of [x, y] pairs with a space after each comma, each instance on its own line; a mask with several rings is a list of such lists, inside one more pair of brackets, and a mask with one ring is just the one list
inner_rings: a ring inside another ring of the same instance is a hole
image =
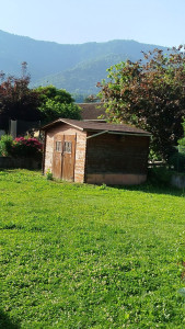
[[183, 191], [0, 172], [0, 328], [184, 328]]

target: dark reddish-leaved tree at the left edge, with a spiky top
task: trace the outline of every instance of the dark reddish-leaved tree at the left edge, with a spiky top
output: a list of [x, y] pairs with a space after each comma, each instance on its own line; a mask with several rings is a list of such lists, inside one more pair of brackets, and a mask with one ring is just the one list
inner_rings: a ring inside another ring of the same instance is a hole
[[0, 73], [0, 114], [11, 120], [37, 121], [41, 112], [38, 94], [28, 88], [30, 76], [26, 75], [26, 63], [22, 64], [22, 77]]

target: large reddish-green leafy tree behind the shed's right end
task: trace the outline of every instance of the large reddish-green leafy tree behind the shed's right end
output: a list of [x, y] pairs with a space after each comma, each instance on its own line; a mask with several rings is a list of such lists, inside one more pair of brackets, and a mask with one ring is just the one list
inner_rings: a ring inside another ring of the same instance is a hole
[[[135, 124], [152, 134], [152, 148], [167, 159], [183, 136], [185, 57], [182, 46], [167, 55], [154, 49], [144, 60], [120, 63], [101, 83], [109, 122]], [[100, 87], [100, 83], [97, 84]]]

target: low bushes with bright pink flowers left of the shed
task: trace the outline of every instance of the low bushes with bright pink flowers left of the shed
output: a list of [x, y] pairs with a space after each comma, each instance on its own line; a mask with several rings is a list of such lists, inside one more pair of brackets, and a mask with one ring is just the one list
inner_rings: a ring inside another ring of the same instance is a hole
[[0, 140], [0, 154], [2, 156], [42, 159], [43, 144], [36, 138], [18, 137], [4, 135]]

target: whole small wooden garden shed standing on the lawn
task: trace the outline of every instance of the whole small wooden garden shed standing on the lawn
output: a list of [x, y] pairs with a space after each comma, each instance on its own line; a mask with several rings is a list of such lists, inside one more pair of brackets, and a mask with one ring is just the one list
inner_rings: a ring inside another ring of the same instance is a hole
[[59, 118], [43, 127], [43, 170], [93, 184], [140, 184], [147, 179], [150, 133], [129, 125]]

